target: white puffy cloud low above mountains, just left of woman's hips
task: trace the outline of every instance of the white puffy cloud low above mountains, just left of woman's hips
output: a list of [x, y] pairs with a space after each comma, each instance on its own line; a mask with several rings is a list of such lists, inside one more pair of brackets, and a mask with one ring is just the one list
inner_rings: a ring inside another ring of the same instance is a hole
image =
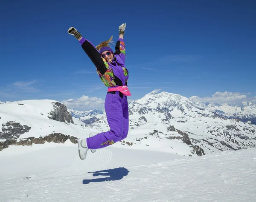
[[104, 109], [104, 102], [105, 100], [102, 100], [101, 98], [97, 97], [89, 97], [86, 95], [83, 95], [82, 97], [79, 97], [78, 99], [68, 99], [61, 101], [64, 105], [66, 105], [67, 108], [84, 111], [84, 110], [90, 110], [94, 108], [98, 109]]

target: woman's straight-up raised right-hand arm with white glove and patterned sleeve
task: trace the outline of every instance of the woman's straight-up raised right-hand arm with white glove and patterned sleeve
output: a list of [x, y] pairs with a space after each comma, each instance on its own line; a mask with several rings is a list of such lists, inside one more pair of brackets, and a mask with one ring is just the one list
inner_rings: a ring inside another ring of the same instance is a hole
[[126, 23], [123, 23], [119, 26], [119, 39], [116, 42], [116, 51], [115, 54], [119, 55], [125, 63], [125, 41], [124, 41], [124, 34], [125, 34], [125, 27]]

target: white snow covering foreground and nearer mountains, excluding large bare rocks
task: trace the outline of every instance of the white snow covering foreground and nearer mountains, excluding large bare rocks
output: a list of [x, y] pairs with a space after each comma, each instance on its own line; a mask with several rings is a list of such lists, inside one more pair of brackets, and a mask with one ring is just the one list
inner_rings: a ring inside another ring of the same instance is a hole
[[[73, 111], [77, 115], [74, 124], [49, 119], [52, 102], [56, 101], [1, 103], [0, 125], [15, 121], [31, 127], [20, 139], [53, 132], [79, 138], [109, 130], [104, 112]], [[154, 91], [129, 106], [133, 114], [128, 137], [96, 153], [89, 151], [84, 161], [69, 139], [64, 144], [4, 148], [0, 151], [0, 202], [255, 201], [256, 148], [225, 151], [220, 141], [229, 131], [231, 146], [236, 140], [241, 148], [252, 147], [256, 125], [213, 118], [208, 109], [166, 92]], [[167, 120], [168, 113], [171, 117]], [[86, 125], [81, 120], [88, 117], [99, 120]], [[182, 137], [177, 131], [169, 131], [168, 126], [187, 132], [206, 155], [192, 155], [192, 147], [181, 139], [167, 138]]]

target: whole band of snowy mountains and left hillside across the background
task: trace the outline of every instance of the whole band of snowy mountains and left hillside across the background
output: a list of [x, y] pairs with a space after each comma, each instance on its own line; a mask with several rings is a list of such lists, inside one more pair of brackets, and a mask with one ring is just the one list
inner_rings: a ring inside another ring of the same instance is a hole
[[[184, 156], [256, 147], [255, 103], [192, 102], [152, 91], [129, 104], [129, 134], [113, 147]], [[10, 145], [76, 144], [79, 137], [109, 130], [105, 111], [76, 111], [55, 100], [0, 104], [0, 151]]]

